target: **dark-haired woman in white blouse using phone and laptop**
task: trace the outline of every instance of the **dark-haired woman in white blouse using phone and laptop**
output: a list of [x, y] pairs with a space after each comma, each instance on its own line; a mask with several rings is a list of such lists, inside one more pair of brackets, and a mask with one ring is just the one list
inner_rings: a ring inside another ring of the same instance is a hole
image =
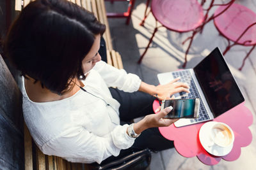
[[104, 31], [105, 25], [76, 4], [38, 0], [22, 10], [8, 32], [4, 48], [22, 73], [24, 120], [47, 155], [100, 164], [127, 148], [172, 147], [157, 129], [175, 122], [163, 119], [171, 109], [152, 114], [153, 96], [170, 98], [189, 92], [188, 85], [178, 79], [148, 85], [109, 66], [98, 52]]

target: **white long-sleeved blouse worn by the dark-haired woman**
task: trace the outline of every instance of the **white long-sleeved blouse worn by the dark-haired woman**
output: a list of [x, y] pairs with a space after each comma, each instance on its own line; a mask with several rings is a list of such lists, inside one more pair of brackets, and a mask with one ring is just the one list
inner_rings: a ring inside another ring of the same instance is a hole
[[100, 164], [134, 143], [134, 138], [126, 133], [128, 125], [120, 125], [120, 104], [113, 99], [108, 87], [137, 91], [141, 80], [135, 74], [100, 61], [83, 81], [87, 92], [79, 90], [66, 99], [45, 103], [31, 101], [24, 78], [22, 81], [24, 120], [44, 154], [70, 162]]

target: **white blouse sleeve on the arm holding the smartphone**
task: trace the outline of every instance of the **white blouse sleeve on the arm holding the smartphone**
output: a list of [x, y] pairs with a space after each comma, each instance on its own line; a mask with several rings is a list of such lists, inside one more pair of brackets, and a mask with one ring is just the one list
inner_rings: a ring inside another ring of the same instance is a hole
[[49, 155], [100, 164], [111, 155], [119, 155], [121, 149], [132, 146], [134, 138], [127, 135], [127, 127], [127, 124], [117, 125], [104, 137], [96, 136], [83, 127], [74, 127], [45, 143], [42, 150]]

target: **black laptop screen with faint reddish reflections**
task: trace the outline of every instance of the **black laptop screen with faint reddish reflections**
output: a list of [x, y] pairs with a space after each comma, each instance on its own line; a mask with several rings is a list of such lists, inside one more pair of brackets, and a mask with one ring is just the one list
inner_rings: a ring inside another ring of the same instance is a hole
[[218, 47], [205, 57], [194, 71], [214, 117], [244, 101]]

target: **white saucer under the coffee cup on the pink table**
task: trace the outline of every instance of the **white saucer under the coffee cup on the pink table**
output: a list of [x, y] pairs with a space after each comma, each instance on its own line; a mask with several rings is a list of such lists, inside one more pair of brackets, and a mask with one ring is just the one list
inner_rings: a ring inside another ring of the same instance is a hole
[[199, 139], [200, 143], [207, 152], [211, 153], [214, 156], [222, 157], [231, 152], [233, 144], [225, 148], [218, 145], [209, 145], [209, 143], [212, 143], [209, 132], [212, 126], [215, 124], [218, 124], [218, 122], [207, 122], [202, 125], [199, 131]]

